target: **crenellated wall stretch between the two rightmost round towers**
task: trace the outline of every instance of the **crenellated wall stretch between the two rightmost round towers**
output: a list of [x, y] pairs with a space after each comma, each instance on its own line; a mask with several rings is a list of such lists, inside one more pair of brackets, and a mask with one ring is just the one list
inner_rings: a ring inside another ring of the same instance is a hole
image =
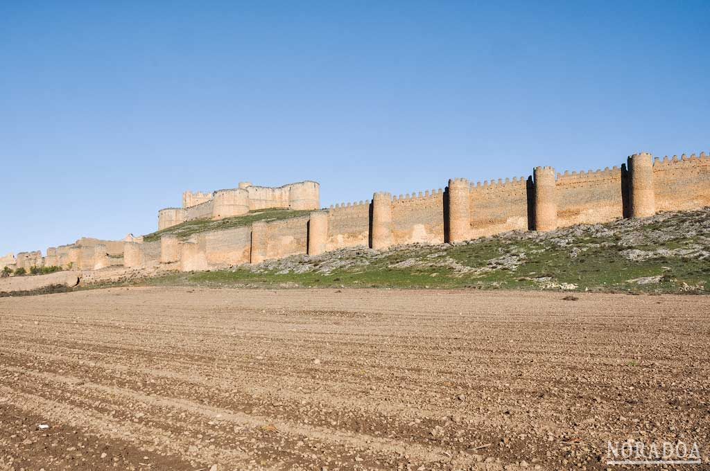
[[557, 226], [606, 223], [623, 218], [619, 167], [557, 174]]

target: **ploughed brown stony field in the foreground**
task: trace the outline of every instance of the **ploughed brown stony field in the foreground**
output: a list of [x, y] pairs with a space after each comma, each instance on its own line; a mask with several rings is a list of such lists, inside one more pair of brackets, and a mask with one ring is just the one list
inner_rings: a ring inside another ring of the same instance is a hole
[[0, 470], [596, 470], [626, 438], [709, 463], [710, 298], [577, 297], [3, 298]]

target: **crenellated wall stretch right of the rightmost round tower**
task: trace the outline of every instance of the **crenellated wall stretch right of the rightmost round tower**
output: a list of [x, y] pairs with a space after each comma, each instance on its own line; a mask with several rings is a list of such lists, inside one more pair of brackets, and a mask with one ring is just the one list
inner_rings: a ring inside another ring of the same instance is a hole
[[653, 191], [656, 211], [682, 211], [710, 206], [710, 156], [667, 156], [655, 159]]

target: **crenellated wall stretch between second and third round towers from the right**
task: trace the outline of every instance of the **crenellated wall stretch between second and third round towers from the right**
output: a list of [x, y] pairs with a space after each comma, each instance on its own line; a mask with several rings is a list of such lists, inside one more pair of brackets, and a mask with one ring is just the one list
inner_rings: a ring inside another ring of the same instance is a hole
[[469, 238], [528, 230], [528, 181], [525, 177], [477, 182], [469, 192]]

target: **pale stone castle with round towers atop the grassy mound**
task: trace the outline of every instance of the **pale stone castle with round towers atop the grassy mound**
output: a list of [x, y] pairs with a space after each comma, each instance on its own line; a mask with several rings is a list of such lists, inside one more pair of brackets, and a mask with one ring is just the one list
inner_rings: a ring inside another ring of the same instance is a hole
[[298, 182], [283, 187], [255, 187], [240, 182], [239, 188], [220, 189], [212, 193], [185, 192], [182, 208], [158, 211], [158, 231], [195, 219], [218, 220], [243, 216], [258, 209], [318, 209], [320, 184]]

